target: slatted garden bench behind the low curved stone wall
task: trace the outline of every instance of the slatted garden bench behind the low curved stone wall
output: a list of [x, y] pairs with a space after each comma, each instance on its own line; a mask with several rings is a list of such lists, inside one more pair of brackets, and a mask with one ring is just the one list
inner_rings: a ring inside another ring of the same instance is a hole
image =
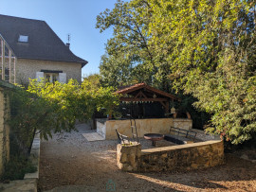
[[171, 127], [170, 134], [166, 134], [164, 139], [166, 141], [173, 142], [174, 144], [183, 145], [193, 143], [197, 132], [183, 130], [179, 128]]

